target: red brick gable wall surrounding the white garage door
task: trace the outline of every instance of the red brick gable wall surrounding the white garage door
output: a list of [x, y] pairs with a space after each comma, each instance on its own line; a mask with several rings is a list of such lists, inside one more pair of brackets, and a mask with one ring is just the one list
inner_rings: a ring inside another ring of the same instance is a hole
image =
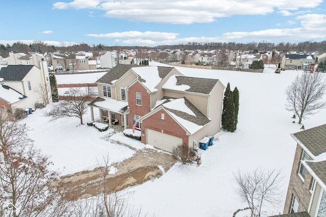
[[[161, 114], [164, 119], [161, 119]], [[162, 132], [172, 136], [182, 138], [182, 143], [188, 146], [188, 136], [183, 128], [163, 109], [153, 113], [150, 117], [142, 121], [142, 143], [146, 144], [146, 128], [154, 131]]]

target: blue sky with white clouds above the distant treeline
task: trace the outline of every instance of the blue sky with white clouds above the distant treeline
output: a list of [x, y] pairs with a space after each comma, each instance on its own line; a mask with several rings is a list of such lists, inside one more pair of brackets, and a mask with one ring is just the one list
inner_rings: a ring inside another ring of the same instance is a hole
[[0, 43], [156, 46], [326, 40], [323, 0], [59, 1], [3, 1]]

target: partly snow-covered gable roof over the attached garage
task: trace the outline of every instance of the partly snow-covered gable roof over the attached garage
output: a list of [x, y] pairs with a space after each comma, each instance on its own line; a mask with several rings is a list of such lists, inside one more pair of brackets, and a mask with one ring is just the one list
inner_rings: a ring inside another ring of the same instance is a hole
[[196, 133], [210, 122], [210, 120], [185, 97], [177, 99], [164, 97], [162, 100], [157, 101], [154, 109], [141, 119], [149, 117], [160, 108], [164, 108], [189, 134]]

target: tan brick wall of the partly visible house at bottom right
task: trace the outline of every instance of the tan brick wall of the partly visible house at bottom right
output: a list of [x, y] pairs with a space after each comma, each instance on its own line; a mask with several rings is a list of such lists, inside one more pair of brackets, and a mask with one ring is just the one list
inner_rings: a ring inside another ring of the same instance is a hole
[[312, 176], [307, 171], [306, 177], [305, 177], [304, 181], [302, 181], [302, 179], [298, 175], [302, 153], [303, 153], [303, 148], [297, 144], [296, 150], [295, 150], [295, 155], [294, 155], [291, 176], [290, 176], [289, 188], [288, 188], [286, 199], [285, 199], [285, 205], [284, 205], [284, 210], [283, 210], [284, 214], [290, 212], [293, 195], [299, 202], [299, 207], [298, 207], [297, 211], [301, 212], [301, 211], [308, 210], [308, 206], [309, 206], [309, 202], [310, 202], [310, 198], [311, 198], [311, 193], [310, 193], [309, 189], [310, 189]]

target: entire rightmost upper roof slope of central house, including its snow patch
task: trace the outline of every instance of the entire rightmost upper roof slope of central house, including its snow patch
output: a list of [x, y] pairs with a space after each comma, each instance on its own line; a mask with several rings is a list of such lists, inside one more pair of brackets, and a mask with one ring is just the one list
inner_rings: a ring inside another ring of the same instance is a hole
[[163, 88], [182, 90], [186, 92], [197, 92], [199, 94], [209, 94], [218, 81], [218, 79], [173, 75], [163, 85]]

